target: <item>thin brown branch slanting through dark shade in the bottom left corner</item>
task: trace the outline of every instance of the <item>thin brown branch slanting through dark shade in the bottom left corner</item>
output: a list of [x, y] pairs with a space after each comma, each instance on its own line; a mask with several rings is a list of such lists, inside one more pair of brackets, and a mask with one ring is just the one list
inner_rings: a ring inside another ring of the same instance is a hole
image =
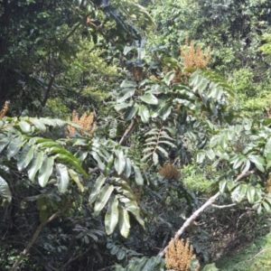
[[20, 257], [18, 257], [18, 259], [15, 261], [14, 265], [11, 267], [11, 271], [16, 270], [16, 268], [18, 266], [20, 266], [23, 258], [27, 255], [28, 251], [30, 248], [32, 248], [34, 242], [36, 241], [36, 239], [39, 237], [42, 229], [52, 220], [56, 219], [64, 210], [66, 210], [68, 208], [68, 206], [66, 206], [65, 208], [58, 210], [57, 212], [55, 212], [53, 215], [51, 215], [51, 217], [48, 220], [43, 221], [40, 226], [38, 227], [38, 229], [36, 229], [36, 231], [33, 234], [33, 237], [31, 238], [30, 242], [28, 243], [28, 245], [26, 246], [26, 248], [23, 249], [23, 252], [21, 252]]

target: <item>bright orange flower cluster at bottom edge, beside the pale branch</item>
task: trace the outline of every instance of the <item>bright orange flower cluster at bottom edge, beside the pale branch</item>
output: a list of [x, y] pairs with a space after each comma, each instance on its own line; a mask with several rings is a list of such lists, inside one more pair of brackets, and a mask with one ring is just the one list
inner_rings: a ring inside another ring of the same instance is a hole
[[[193, 254], [193, 247], [190, 245], [189, 238], [186, 242], [183, 239], [171, 240], [165, 252], [165, 266], [168, 269], [178, 271], [190, 271], [190, 262], [196, 256]], [[194, 270], [199, 270], [200, 265]]]

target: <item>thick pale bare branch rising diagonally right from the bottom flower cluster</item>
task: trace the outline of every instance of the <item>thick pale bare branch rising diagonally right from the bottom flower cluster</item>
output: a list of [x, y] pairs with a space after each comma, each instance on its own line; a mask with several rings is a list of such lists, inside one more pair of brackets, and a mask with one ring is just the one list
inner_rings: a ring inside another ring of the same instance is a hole
[[[238, 182], [240, 181], [241, 179], [244, 179], [248, 176], [250, 176], [251, 174], [254, 174], [257, 172], [257, 168], [247, 172], [247, 173], [241, 173], [238, 175], [238, 177], [233, 181], [233, 182]], [[178, 238], [180, 238], [182, 236], [182, 233], [185, 231], [185, 229], [187, 229], [192, 223], [194, 220], [197, 219], [197, 217], [201, 214], [201, 212], [203, 212], [207, 207], [211, 206], [214, 201], [216, 201], [218, 198], [220, 197], [220, 192], [217, 192], [215, 195], [213, 195], [212, 197], [210, 197], [210, 199], [208, 201], [206, 201], [200, 209], [194, 211], [192, 213], [192, 216], [190, 218], [188, 218], [182, 225], [182, 228], [179, 229], [176, 234], [175, 234], [175, 237], [174, 237], [174, 240], [177, 240]], [[164, 257], [164, 254], [165, 254], [165, 251], [166, 249], [168, 248], [165, 247], [162, 251], [159, 252], [159, 254], [157, 255], [157, 257]]]

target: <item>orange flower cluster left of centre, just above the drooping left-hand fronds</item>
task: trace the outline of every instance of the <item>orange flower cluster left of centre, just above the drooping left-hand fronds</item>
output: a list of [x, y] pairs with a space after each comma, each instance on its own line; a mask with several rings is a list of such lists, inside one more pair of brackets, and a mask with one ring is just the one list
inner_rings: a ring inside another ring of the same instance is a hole
[[[71, 117], [71, 121], [82, 127], [80, 130], [81, 135], [84, 135], [85, 133], [92, 135], [95, 132], [96, 123], [94, 122], [93, 112], [90, 114], [84, 113], [81, 117], [79, 117], [79, 114], [76, 112], [76, 110], [73, 110]], [[73, 126], [68, 126], [68, 130], [70, 134], [75, 134], [77, 132], [77, 129]]]

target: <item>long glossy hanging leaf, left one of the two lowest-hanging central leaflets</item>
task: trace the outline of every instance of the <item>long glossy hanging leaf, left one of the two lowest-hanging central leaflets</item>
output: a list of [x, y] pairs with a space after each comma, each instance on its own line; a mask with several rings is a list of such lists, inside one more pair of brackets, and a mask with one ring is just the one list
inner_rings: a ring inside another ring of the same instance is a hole
[[117, 206], [118, 206], [117, 197], [114, 196], [108, 201], [108, 209], [105, 217], [105, 226], [107, 235], [112, 234], [117, 226], [118, 221]]

